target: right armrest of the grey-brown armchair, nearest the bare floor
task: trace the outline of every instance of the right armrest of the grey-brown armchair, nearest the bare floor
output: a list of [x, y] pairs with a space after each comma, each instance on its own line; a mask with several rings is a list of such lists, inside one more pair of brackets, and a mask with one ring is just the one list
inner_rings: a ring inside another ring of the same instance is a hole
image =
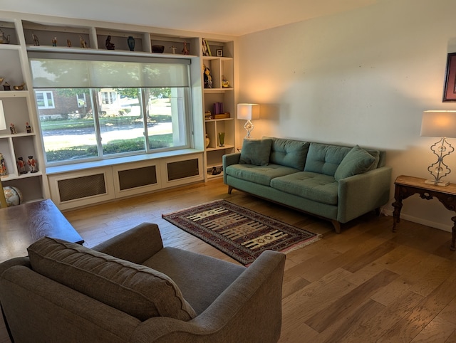
[[202, 314], [189, 322], [154, 317], [135, 342], [277, 342], [285, 255], [266, 250]]

